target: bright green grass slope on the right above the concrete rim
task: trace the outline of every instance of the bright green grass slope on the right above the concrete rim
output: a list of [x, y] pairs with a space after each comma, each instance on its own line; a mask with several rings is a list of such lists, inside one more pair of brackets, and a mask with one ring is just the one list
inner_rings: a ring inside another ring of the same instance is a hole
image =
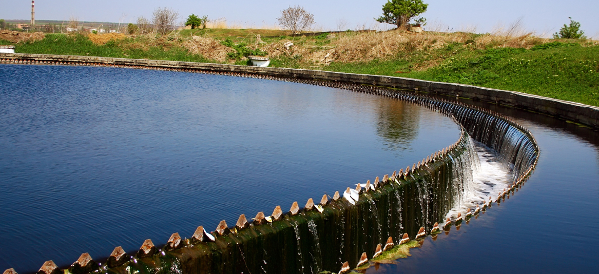
[[[434, 54], [368, 63], [332, 63], [322, 69], [471, 84], [599, 106], [597, 46], [452, 50], [455, 54], [438, 52], [447, 56], [439, 65], [423, 71], [413, 71], [412, 67], [427, 58], [433, 60]], [[285, 62], [274, 63], [285, 65]]]

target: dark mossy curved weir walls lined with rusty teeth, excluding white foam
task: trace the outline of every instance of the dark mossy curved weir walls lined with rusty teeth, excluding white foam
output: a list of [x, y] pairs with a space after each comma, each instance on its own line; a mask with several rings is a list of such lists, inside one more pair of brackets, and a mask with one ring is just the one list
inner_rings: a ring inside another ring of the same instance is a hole
[[[500, 197], [494, 197], [495, 202], [521, 187], [539, 156], [539, 147], [530, 132], [503, 115], [381, 87], [424, 90], [424, 85], [415, 84], [430, 82], [297, 69], [87, 56], [0, 54], [0, 62], [160, 69], [338, 87], [435, 109], [453, 118], [462, 129], [455, 144], [399, 172], [389, 172], [391, 175], [384, 175], [382, 179], [376, 177], [365, 187], [358, 185], [355, 189], [338, 191], [332, 197], [325, 195], [320, 202], [313, 199], [308, 199], [305, 205], [295, 202], [288, 212], [277, 206], [270, 216], [258, 212], [250, 221], [242, 214], [235, 226], [222, 221], [210, 233], [204, 227], [198, 227], [188, 239], [174, 233], [164, 246], [155, 246], [152, 240], [146, 240], [138, 251], [129, 254], [119, 246], [107, 261], [96, 263], [87, 253], [63, 269], [53, 261], [47, 261], [39, 274], [347, 272], [393, 245], [459, 224], [461, 215], [453, 220], [444, 220], [444, 217], [459, 199], [470, 171], [469, 163], [476, 157], [470, 138], [494, 149], [503, 163], [513, 166], [513, 184]], [[429, 92], [434, 91], [432, 84], [426, 87]], [[448, 91], [447, 94], [451, 93]], [[483, 210], [491, 203], [485, 203]], [[474, 214], [478, 212], [477, 208]], [[470, 209], [464, 213], [466, 218], [473, 214]], [[16, 272], [8, 269], [4, 273]]]

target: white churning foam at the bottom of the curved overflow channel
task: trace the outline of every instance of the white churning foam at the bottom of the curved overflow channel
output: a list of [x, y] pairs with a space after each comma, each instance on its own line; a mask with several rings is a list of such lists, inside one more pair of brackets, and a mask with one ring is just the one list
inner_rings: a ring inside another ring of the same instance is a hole
[[512, 182], [511, 169], [499, 162], [494, 151], [477, 142], [474, 143], [474, 150], [479, 162], [473, 165], [472, 180], [465, 182], [462, 199], [456, 200], [456, 204], [447, 212], [445, 218], [455, 220], [458, 212], [464, 214], [468, 208], [482, 206], [489, 197], [497, 199], [499, 193], [504, 188], [507, 189]]

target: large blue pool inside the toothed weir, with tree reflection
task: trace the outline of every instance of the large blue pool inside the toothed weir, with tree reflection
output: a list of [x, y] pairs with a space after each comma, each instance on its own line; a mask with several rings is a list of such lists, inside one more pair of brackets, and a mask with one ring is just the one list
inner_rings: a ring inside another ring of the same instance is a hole
[[459, 137], [418, 105], [304, 84], [34, 65], [0, 83], [0, 269], [19, 273], [288, 211]]

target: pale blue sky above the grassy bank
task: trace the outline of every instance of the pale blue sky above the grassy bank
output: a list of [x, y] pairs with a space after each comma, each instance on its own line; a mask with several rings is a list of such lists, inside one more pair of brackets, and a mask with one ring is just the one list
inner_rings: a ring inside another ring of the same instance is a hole
[[[152, 17], [157, 7], [170, 7], [183, 17], [194, 13], [208, 19], [225, 18], [229, 25], [260, 28], [277, 23], [280, 11], [289, 6], [301, 5], [314, 14], [316, 30], [336, 30], [337, 22], [347, 22], [344, 29], [388, 28], [377, 24], [374, 17], [382, 14], [386, 0], [37, 0], [37, 20], [69, 20], [71, 16], [80, 21], [134, 23], [138, 16]], [[599, 1], [597, 0], [424, 0], [429, 4], [425, 29], [437, 31], [493, 32], [500, 26], [509, 26], [521, 19], [525, 31], [539, 36], [550, 36], [569, 23], [568, 17], [580, 22], [587, 36], [599, 38]], [[0, 0], [0, 19], [30, 19], [31, 0]]]

